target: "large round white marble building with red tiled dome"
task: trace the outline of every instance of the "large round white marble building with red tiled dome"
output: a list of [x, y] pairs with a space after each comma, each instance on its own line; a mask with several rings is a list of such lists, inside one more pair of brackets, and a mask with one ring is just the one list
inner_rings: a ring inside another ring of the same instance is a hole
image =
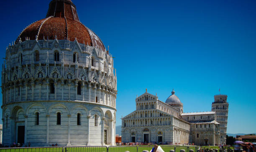
[[5, 55], [4, 146], [115, 145], [113, 58], [71, 0], [52, 0]]

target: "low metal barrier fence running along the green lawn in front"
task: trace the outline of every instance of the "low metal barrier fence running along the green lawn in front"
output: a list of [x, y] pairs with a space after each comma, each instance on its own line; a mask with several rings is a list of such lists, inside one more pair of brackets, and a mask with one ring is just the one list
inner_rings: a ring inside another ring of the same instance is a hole
[[[164, 152], [180, 152], [184, 150], [197, 152], [197, 146], [173, 146], [160, 145]], [[0, 148], [0, 152], [150, 152], [154, 145], [139, 146], [86, 146], [86, 147], [20, 147], [20, 148]]]

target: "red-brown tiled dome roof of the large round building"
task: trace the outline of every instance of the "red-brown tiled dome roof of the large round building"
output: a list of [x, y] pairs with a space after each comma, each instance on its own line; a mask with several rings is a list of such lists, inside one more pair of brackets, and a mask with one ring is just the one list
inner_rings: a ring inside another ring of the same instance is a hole
[[20, 33], [18, 40], [25, 41], [26, 37], [30, 40], [65, 40], [68, 38], [79, 43], [95, 46], [101, 50], [105, 47], [100, 38], [92, 30], [85, 27], [78, 18], [75, 5], [71, 0], [52, 0], [46, 18], [38, 20], [29, 25]]

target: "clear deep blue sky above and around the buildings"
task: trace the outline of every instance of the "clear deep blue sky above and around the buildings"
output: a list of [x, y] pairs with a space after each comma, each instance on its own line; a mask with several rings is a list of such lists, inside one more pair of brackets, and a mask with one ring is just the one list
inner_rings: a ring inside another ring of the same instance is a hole
[[[1, 3], [2, 57], [24, 27], [46, 16], [49, 2]], [[80, 21], [115, 57], [116, 125], [135, 110], [136, 95], [146, 88], [163, 102], [174, 88], [184, 112], [200, 112], [211, 110], [220, 87], [230, 104], [227, 132], [256, 132], [256, 1], [73, 2]]]

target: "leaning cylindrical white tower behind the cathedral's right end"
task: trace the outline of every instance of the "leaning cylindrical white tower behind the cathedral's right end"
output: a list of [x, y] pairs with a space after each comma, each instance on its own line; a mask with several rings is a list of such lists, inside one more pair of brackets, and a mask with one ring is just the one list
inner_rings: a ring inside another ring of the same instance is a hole
[[227, 98], [227, 95], [215, 95], [214, 102], [212, 102], [212, 111], [216, 112], [217, 122], [220, 123], [220, 144], [226, 144], [228, 123]]

